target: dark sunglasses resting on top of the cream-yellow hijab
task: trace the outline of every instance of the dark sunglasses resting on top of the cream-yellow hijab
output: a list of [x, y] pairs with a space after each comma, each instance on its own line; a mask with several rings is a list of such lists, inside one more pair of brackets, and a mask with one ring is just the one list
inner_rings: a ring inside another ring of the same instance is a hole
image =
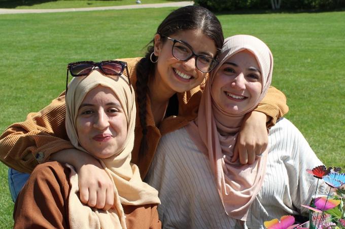
[[119, 60], [104, 60], [100, 62], [93, 62], [93, 61], [79, 61], [69, 63], [67, 65], [67, 75], [66, 75], [66, 94], [67, 94], [67, 86], [68, 86], [68, 71], [71, 72], [73, 77], [85, 77], [86, 75], [90, 74], [90, 72], [98, 67], [99, 71], [106, 75], [121, 75], [123, 70], [126, 68], [127, 71], [127, 78], [128, 78], [128, 85], [130, 90], [130, 79], [128, 73], [127, 63], [124, 61]]

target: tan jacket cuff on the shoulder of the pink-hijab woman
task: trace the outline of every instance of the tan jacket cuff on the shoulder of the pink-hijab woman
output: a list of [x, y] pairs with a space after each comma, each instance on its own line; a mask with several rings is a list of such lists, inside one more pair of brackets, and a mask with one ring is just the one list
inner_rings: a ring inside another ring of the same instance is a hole
[[271, 127], [274, 126], [279, 118], [286, 115], [289, 111], [289, 107], [286, 104], [284, 93], [277, 88], [269, 87], [266, 96], [254, 110], [263, 112], [265, 115], [271, 117], [270, 121], [267, 123], [267, 127]]

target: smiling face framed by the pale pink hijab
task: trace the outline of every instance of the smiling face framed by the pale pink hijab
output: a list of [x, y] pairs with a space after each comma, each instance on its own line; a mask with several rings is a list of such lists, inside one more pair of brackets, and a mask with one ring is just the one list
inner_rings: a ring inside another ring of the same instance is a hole
[[218, 69], [211, 90], [215, 103], [227, 113], [236, 115], [253, 107], [262, 90], [255, 56], [244, 50], [229, 57]]

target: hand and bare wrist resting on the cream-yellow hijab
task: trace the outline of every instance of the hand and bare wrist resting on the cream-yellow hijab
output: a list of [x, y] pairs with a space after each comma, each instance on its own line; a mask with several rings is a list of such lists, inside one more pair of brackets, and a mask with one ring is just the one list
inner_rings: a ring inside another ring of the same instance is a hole
[[78, 149], [63, 149], [50, 157], [72, 165], [78, 174], [80, 201], [89, 207], [109, 210], [114, 205], [114, 185], [99, 161]]

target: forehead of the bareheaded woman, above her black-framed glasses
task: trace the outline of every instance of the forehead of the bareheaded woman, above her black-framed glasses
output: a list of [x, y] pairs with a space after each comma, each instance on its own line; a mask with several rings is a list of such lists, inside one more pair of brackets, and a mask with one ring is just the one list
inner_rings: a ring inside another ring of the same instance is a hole
[[201, 29], [181, 30], [170, 35], [172, 38], [188, 43], [196, 53], [217, 53], [216, 43]]

